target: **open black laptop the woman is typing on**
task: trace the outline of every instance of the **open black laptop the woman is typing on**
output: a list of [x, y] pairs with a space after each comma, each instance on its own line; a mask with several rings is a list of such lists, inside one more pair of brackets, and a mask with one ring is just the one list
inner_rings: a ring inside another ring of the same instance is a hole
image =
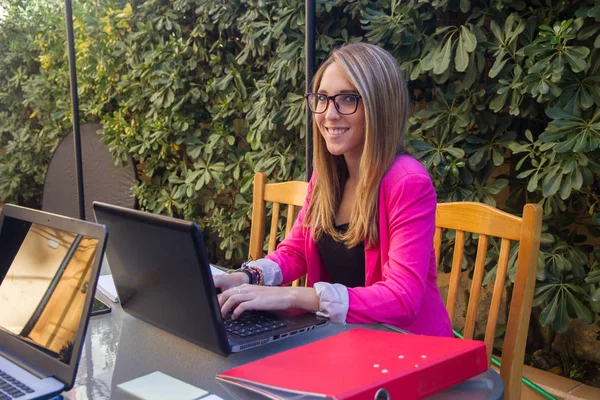
[[[106, 257], [121, 306], [145, 322], [221, 355], [327, 323], [313, 313], [289, 310], [244, 313], [236, 324], [246, 326], [232, 326], [221, 317], [197, 224], [100, 202], [93, 207], [96, 220], [110, 231]], [[250, 316], [258, 316], [258, 324], [246, 321]]]

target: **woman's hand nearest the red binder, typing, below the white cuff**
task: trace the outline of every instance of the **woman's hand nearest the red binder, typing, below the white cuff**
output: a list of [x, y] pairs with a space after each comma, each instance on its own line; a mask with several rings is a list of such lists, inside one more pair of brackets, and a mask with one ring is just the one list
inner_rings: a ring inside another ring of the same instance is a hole
[[319, 298], [313, 288], [257, 286], [244, 284], [225, 290], [219, 295], [221, 314], [233, 310], [232, 319], [247, 310], [287, 310], [302, 308], [319, 310]]

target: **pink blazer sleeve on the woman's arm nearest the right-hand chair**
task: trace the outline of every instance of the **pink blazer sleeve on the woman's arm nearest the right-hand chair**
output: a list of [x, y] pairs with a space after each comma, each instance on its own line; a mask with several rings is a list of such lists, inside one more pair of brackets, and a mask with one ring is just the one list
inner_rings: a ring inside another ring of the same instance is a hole
[[382, 187], [386, 190], [387, 226], [379, 227], [380, 233], [385, 229], [389, 233], [382, 280], [368, 287], [348, 288], [349, 323], [407, 326], [425, 300], [435, 233], [435, 190], [429, 176], [418, 173], [405, 175], [389, 186], [388, 190]]

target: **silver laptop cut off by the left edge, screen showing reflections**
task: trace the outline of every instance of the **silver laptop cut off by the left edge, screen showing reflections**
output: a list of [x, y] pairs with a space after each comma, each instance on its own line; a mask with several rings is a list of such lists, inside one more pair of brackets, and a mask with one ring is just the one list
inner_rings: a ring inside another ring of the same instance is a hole
[[0, 214], [0, 398], [73, 386], [106, 243], [95, 223], [7, 204]]

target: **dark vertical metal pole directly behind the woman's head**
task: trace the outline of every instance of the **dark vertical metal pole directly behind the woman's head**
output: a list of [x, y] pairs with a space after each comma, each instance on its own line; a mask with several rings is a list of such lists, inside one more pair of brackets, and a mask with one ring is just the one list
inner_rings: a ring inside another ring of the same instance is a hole
[[[315, 72], [315, 0], [306, 0], [304, 46], [306, 51], [306, 93], [311, 91], [310, 85]], [[312, 176], [312, 114], [306, 110], [306, 180]]]

